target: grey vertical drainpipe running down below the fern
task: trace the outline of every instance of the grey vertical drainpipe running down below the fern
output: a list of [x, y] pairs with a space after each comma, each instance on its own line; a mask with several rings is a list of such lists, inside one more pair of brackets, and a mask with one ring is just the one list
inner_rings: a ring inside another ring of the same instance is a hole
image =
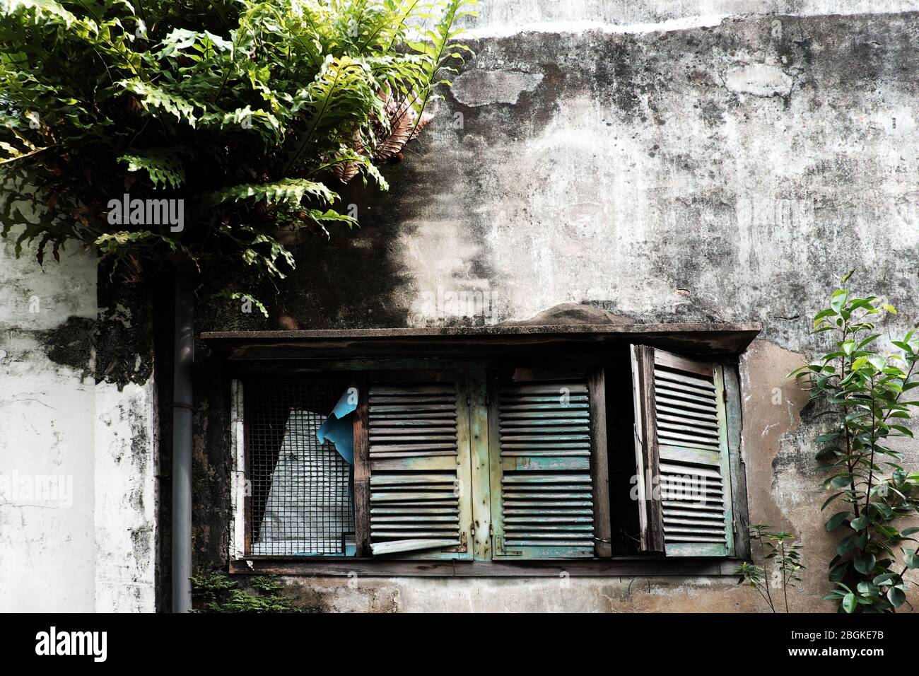
[[195, 298], [191, 278], [176, 270], [173, 362], [172, 610], [191, 610], [191, 416], [195, 361]]

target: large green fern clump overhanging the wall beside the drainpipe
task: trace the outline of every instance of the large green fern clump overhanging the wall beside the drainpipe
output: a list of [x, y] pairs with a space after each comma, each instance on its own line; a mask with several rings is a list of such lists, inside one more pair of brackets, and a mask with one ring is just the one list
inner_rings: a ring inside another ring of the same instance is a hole
[[[291, 233], [356, 224], [336, 184], [387, 189], [474, 4], [3, 0], [0, 233], [40, 262], [74, 240], [136, 274], [230, 257], [282, 278]], [[182, 200], [184, 223], [113, 225], [123, 194]]]

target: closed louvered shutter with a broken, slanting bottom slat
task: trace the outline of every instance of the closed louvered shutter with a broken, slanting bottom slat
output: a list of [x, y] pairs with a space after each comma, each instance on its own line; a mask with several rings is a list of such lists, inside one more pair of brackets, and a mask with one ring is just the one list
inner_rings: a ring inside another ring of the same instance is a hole
[[374, 556], [469, 558], [469, 408], [452, 373], [369, 386], [369, 525]]

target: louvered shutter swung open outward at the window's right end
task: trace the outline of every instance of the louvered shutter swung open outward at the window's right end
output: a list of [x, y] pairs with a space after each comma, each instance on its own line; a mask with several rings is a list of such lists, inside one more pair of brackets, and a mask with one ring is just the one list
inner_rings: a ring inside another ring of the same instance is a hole
[[661, 349], [631, 349], [642, 549], [732, 556], [722, 369]]

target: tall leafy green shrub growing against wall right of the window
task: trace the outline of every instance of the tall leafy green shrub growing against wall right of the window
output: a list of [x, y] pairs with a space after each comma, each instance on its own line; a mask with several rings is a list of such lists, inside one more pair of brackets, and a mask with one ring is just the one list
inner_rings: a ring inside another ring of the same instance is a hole
[[905, 470], [903, 454], [890, 445], [913, 438], [907, 424], [919, 406], [910, 395], [919, 387], [919, 337], [910, 330], [891, 341], [899, 351], [881, 351], [876, 323], [886, 313], [896, 310], [877, 296], [834, 291], [813, 321], [814, 332], [834, 335], [834, 348], [794, 372], [830, 420], [816, 440], [820, 469], [830, 475], [823, 487], [833, 491], [823, 509], [845, 509], [826, 521], [827, 531], [841, 533], [829, 566], [835, 589], [826, 598], [845, 613], [900, 608], [907, 585], [915, 584], [903, 576], [919, 567], [915, 546], [909, 546], [919, 526], [902, 528], [919, 514], [919, 473]]

